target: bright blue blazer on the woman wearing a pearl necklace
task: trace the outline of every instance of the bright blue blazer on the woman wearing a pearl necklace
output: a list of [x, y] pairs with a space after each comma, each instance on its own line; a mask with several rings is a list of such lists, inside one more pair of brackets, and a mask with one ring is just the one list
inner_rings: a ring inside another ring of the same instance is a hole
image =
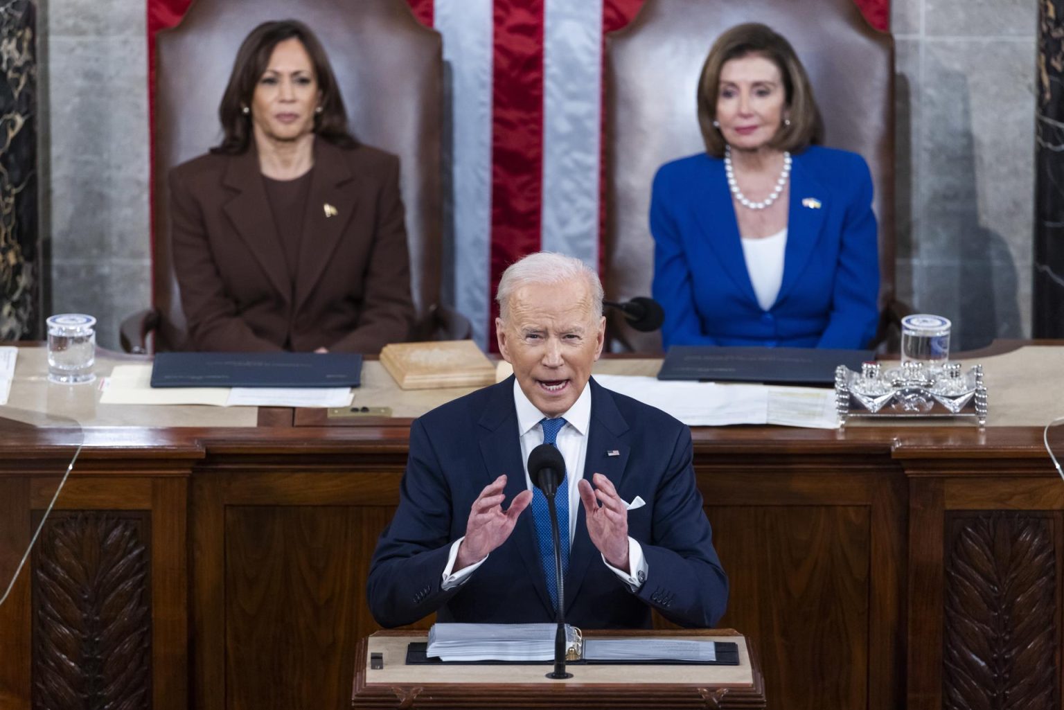
[[724, 161], [701, 153], [658, 170], [650, 231], [666, 348], [863, 348], [875, 336], [879, 247], [868, 166], [818, 146], [793, 159], [783, 283], [768, 311], [746, 269]]

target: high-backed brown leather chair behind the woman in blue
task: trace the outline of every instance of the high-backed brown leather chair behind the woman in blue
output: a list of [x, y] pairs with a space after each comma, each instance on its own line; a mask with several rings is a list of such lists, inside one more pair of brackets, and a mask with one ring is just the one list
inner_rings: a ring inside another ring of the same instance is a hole
[[[894, 40], [872, 29], [853, 0], [645, 0], [628, 27], [608, 36], [606, 299], [650, 294], [654, 172], [705, 150], [696, 104], [702, 63], [720, 33], [750, 21], [768, 24], [798, 52], [824, 114], [825, 144], [868, 162], [879, 220], [879, 302], [893, 313]], [[638, 333], [616, 315], [613, 349], [661, 350], [660, 333]]]

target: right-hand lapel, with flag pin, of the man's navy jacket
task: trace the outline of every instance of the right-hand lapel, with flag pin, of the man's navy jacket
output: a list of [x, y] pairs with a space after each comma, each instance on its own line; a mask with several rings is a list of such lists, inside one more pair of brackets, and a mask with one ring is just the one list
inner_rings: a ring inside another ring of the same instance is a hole
[[[592, 389], [592, 418], [587, 431], [583, 477], [591, 482], [592, 476], [602, 474], [615, 486], [620, 488], [631, 450], [627, 435], [628, 423], [617, 410], [609, 390], [599, 386], [594, 379], [588, 381], [588, 386]], [[614, 452], [616, 453], [611, 456]], [[587, 568], [595, 560], [601, 563], [601, 556], [587, 534], [587, 517], [581, 503], [577, 508], [577, 528], [569, 551], [569, 569], [565, 574], [566, 613], [572, 607]]]

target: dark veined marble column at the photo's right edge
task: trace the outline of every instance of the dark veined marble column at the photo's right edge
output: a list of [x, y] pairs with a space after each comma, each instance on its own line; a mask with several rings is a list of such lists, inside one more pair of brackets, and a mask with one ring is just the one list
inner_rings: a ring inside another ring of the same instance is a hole
[[1064, 0], [1038, 0], [1034, 337], [1064, 337]]

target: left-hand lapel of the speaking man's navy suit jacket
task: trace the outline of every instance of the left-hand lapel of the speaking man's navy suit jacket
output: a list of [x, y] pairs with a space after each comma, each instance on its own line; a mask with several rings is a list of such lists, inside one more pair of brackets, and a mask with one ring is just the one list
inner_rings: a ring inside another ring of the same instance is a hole
[[[484, 458], [487, 478], [481, 488], [495, 480], [500, 474], [506, 475], [504, 494], [509, 505], [521, 491], [528, 490], [525, 480], [525, 463], [521, 461], [520, 432], [517, 430], [517, 410], [514, 407], [514, 378], [511, 376], [495, 385], [492, 400], [484, 408], [480, 417], [480, 451]], [[586, 535], [585, 535], [586, 536]], [[525, 564], [525, 574], [532, 580], [539, 600], [551, 611], [550, 594], [547, 593], [547, 580], [543, 565], [539, 563], [539, 551], [536, 546], [535, 523], [532, 509], [529, 507], [517, 518], [517, 525], [510, 534], [511, 550], [516, 548]], [[513, 554], [508, 551], [506, 554]], [[571, 560], [571, 557], [570, 557]], [[571, 568], [571, 561], [570, 561]]]

